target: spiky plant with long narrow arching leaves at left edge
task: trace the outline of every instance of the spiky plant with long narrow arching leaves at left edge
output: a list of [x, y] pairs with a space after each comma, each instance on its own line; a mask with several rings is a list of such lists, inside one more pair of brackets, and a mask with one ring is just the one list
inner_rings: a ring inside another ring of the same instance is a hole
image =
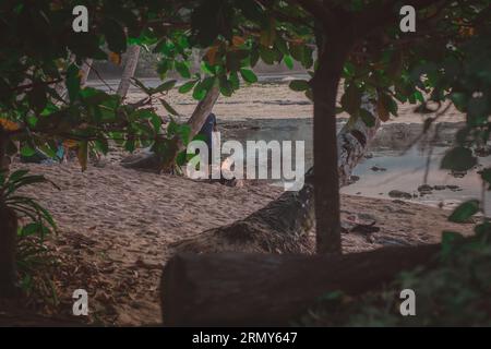
[[17, 170], [10, 176], [7, 171], [0, 172], [0, 296], [15, 293], [17, 277], [24, 291], [32, 291], [34, 284], [39, 281], [41, 288], [53, 296], [48, 275], [34, 277], [34, 270], [52, 264], [44, 241], [57, 226], [46, 208], [20, 193], [25, 186], [40, 183], [59, 189], [44, 176], [28, 174], [27, 170]]

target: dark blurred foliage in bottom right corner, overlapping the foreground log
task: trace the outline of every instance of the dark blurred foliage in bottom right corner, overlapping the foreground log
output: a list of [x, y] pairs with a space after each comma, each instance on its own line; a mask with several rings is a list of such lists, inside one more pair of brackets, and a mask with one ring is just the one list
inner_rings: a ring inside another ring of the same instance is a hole
[[[481, 226], [474, 239], [446, 232], [438, 266], [402, 273], [382, 291], [351, 298], [326, 293], [300, 320], [312, 326], [490, 326], [491, 230]], [[402, 316], [399, 292], [416, 293], [416, 316]]]

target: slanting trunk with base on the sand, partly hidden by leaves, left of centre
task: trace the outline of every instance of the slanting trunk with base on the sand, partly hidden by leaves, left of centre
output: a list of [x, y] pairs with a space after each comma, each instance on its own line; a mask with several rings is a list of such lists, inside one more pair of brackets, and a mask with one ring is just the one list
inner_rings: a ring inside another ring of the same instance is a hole
[[[204, 122], [206, 121], [206, 118], [209, 116], [209, 113], [213, 110], [213, 107], [215, 106], [216, 100], [219, 96], [219, 88], [218, 86], [214, 86], [212, 89], [208, 91], [206, 94], [206, 97], [200, 100], [196, 108], [194, 109], [192, 116], [188, 120], [188, 124], [190, 125], [190, 134], [189, 137], [192, 140], [197, 132], [200, 132], [201, 128], [203, 127]], [[183, 146], [180, 145], [177, 149], [179, 153], [183, 149]], [[176, 154], [177, 155], [177, 154]], [[169, 157], [172, 158], [172, 157]], [[170, 164], [173, 165], [173, 164]], [[137, 155], [130, 155], [127, 158], [123, 158], [121, 160], [121, 166], [125, 168], [134, 168], [140, 170], [149, 170], [149, 171], [159, 171], [163, 167], [166, 167], [166, 164], [163, 166], [160, 164], [159, 157], [151, 152], [145, 152], [143, 154]]]

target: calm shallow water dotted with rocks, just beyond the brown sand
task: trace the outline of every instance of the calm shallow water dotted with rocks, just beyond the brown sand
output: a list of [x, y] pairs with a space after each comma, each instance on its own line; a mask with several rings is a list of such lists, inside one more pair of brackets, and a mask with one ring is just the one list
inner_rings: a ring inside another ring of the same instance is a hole
[[[338, 129], [343, 122], [338, 123]], [[440, 163], [448, 149], [453, 140], [453, 133], [457, 124], [446, 124], [442, 132], [443, 136], [432, 146], [430, 166], [428, 168], [427, 184], [457, 185], [456, 189], [445, 188], [432, 190], [421, 195], [418, 186], [424, 183], [427, 161], [430, 147], [416, 144], [409, 151], [404, 151], [408, 144], [420, 132], [420, 124], [393, 124], [384, 127], [379, 131], [373, 146], [369, 148], [369, 158], [364, 158], [355, 168], [354, 176], [359, 177], [355, 183], [342, 189], [342, 193], [362, 195], [369, 197], [390, 197], [392, 190], [404, 191], [414, 195], [411, 202], [444, 207], [453, 207], [458, 203], [470, 198], [481, 198], [482, 183], [474, 169], [464, 177], [455, 177], [447, 170], [440, 169]], [[228, 122], [221, 125], [223, 141], [237, 140], [242, 144], [246, 141], [272, 140], [279, 141], [304, 141], [306, 145], [306, 169], [313, 164], [312, 153], [312, 120], [309, 119], [274, 119], [274, 120], [250, 120], [244, 122]], [[403, 132], [402, 132], [403, 131]], [[249, 154], [247, 156], [250, 156]], [[480, 164], [491, 165], [490, 157], [480, 158]], [[263, 161], [259, 166], [271, 167]], [[372, 170], [372, 168], [383, 170]], [[458, 174], [458, 173], [457, 173]], [[278, 185], [282, 182], [275, 182]], [[491, 195], [484, 193], [484, 208], [487, 216], [491, 216]]]

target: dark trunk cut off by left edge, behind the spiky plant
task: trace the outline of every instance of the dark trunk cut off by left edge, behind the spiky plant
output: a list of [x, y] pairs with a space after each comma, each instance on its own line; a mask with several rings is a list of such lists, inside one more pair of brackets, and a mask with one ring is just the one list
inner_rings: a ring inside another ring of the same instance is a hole
[[[8, 136], [0, 127], [0, 173], [7, 176], [5, 163]], [[17, 237], [17, 217], [0, 196], [0, 297], [15, 294], [15, 251]]]

